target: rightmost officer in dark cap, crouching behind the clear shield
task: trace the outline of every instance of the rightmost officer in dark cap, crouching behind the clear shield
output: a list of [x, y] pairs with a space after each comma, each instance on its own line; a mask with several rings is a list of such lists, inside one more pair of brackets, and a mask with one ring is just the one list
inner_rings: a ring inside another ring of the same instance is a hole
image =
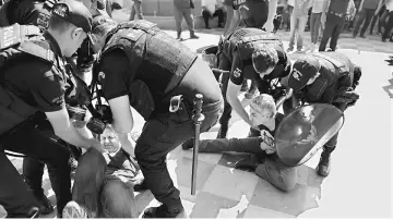
[[[343, 53], [308, 53], [295, 61], [287, 84], [294, 89], [295, 99], [291, 100], [301, 103], [330, 103], [345, 111], [347, 107], [354, 106], [359, 98], [355, 88], [360, 76], [359, 66], [355, 65]], [[297, 105], [291, 102], [291, 108]], [[337, 136], [338, 134], [333, 136], [323, 146], [321, 160], [318, 164], [318, 174], [321, 176], [327, 176], [330, 173], [331, 154], [336, 147]]]

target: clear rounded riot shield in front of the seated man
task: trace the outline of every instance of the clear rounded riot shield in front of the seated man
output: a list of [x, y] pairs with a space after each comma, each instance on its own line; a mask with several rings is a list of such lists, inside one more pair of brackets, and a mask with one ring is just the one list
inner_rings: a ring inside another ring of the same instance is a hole
[[293, 110], [275, 133], [278, 158], [289, 167], [307, 162], [344, 124], [344, 113], [332, 105], [313, 103]]

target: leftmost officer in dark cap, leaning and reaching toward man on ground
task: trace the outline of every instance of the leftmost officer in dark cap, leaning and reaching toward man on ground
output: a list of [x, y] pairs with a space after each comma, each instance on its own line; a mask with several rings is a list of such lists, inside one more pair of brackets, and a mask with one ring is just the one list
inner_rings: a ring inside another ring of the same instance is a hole
[[[0, 145], [2, 149], [36, 158], [52, 168], [52, 172], [57, 173], [57, 179], [51, 180], [57, 182], [52, 182], [52, 187], [57, 195], [58, 212], [61, 213], [71, 199], [70, 154], [37, 130], [36, 117], [45, 113], [55, 134], [67, 143], [98, 149], [102, 145], [76, 132], [64, 105], [67, 74], [63, 57], [71, 57], [88, 36], [92, 15], [82, 3], [72, 0], [55, 4], [52, 14], [49, 28], [43, 36], [15, 41], [22, 33], [19, 25], [2, 32], [5, 40], [2, 46], [13, 47], [0, 53], [0, 60], [7, 60], [7, 63], [1, 63]], [[21, 62], [24, 64], [20, 65]], [[27, 191], [3, 150], [0, 157], [0, 174], [7, 176], [0, 181], [0, 203], [9, 217], [26, 217], [32, 208], [37, 207], [37, 200]], [[58, 183], [61, 183], [61, 188]]]

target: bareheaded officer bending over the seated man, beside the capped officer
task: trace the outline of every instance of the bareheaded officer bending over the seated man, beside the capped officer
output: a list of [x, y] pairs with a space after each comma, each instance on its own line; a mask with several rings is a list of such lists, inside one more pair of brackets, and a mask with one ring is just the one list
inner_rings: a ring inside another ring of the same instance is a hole
[[226, 37], [218, 46], [217, 60], [219, 70], [230, 71], [222, 77], [222, 91], [226, 101], [217, 137], [225, 138], [233, 108], [252, 126], [238, 99], [242, 81], [254, 80], [261, 94], [272, 94], [272, 80], [288, 75], [290, 61], [277, 36], [257, 28], [241, 28]]

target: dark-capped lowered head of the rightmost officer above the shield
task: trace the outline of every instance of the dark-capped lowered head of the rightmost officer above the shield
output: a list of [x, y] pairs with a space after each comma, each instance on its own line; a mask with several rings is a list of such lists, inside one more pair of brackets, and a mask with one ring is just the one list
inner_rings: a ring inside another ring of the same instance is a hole
[[288, 78], [288, 86], [294, 91], [299, 91], [311, 85], [321, 74], [321, 63], [313, 56], [305, 56], [295, 61]]

